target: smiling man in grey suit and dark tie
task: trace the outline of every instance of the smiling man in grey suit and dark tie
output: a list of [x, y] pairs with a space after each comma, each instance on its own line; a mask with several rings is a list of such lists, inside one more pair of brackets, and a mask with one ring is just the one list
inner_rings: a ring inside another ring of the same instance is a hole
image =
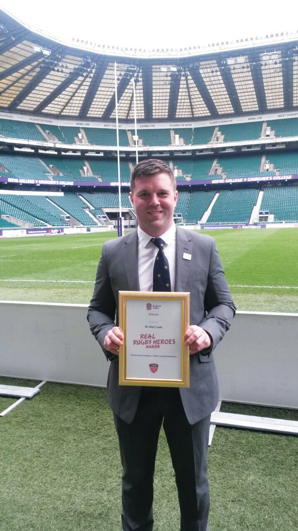
[[[107, 396], [123, 467], [122, 528], [153, 529], [153, 474], [163, 425], [176, 475], [180, 531], [206, 531], [209, 422], [218, 400], [212, 350], [229, 328], [235, 306], [214, 239], [174, 225], [178, 193], [165, 162], [140, 162], [132, 172], [130, 190], [138, 229], [103, 245], [88, 312], [91, 331], [111, 361]], [[117, 326], [118, 291], [155, 291], [160, 259], [168, 277], [164, 289], [157, 290], [190, 292], [191, 325], [184, 337], [190, 352], [190, 388], [119, 386], [124, 335]]]

